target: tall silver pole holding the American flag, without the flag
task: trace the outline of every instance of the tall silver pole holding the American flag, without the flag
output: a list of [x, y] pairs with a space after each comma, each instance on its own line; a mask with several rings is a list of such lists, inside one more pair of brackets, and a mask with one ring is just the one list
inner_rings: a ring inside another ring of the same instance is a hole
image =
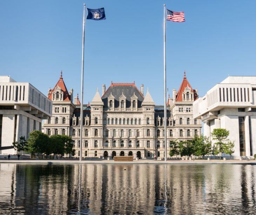
[[167, 161], [167, 137], [166, 137], [166, 45], [165, 45], [165, 24], [166, 24], [166, 8], [163, 5], [163, 79], [164, 79], [164, 161]]

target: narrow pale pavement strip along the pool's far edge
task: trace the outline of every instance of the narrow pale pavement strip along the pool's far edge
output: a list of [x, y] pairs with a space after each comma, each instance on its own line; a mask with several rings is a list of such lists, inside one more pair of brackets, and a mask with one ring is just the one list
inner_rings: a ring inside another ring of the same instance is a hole
[[134, 160], [134, 161], [114, 161], [114, 160], [0, 160], [0, 163], [17, 164], [255, 164], [256, 160]]

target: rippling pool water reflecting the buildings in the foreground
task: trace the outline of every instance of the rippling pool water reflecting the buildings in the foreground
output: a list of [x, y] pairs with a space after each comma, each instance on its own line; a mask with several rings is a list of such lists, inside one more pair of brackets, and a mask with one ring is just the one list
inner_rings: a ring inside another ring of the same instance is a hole
[[256, 214], [255, 175], [255, 165], [0, 164], [0, 214]]

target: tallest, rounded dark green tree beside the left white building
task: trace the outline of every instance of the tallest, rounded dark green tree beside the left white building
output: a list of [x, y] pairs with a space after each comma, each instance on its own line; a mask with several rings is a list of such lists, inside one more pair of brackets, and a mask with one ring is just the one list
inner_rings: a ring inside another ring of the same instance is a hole
[[41, 131], [34, 130], [29, 133], [27, 141], [27, 151], [31, 154], [45, 153], [49, 144], [49, 136]]

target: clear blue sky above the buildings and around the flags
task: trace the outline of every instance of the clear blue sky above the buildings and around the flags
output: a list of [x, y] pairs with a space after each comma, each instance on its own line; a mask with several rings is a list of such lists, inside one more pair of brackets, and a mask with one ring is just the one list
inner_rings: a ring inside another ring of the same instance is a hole
[[106, 20], [86, 25], [84, 103], [102, 84], [135, 81], [163, 104], [163, 4], [186, 19], [167, 21], [170, 95], [183, 70], [200, 96], [228, 75], [256, 75], [256, 1], [250, 0], [1, 0], [0, 75], [47, 94], [63, 70], [68, 90], [80, 94], [84, 2], [106, 12]]

